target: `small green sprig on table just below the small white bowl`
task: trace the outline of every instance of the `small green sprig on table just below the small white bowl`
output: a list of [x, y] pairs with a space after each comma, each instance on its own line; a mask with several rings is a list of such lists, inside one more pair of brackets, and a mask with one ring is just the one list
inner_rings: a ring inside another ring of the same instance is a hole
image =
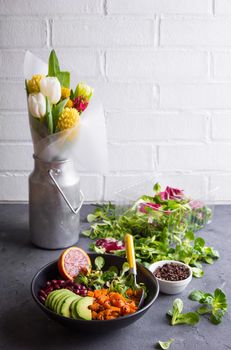
[[189, 324], [191, 326], [199, 322], [200, 317], [196, 312], [187, 312], [182, 314], [183, 311], [183, 301], [181, 299], [175, 299], [173, 302], [172, 310], [167, 312], [167, 316], [171, 317], [171, 325], [176, 324]]

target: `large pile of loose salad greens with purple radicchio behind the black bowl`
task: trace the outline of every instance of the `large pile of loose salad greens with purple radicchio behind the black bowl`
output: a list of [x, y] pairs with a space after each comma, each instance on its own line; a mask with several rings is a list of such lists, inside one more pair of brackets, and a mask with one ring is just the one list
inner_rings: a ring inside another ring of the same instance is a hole
[[[179, 189], [166, 187], [165, 191], [160, 190], [160, 185], [155, 184], [153, 197], [141, 196], [120, 216], [116, 215], [117, 208], [111, 203], [97, 206], [94, 213], [88, 215], [91, 229], [83, 234], [92, 240], [113, 238], [122, 241], [124, 235], [130, 233], [134, 236], [137, 261], [148, 266], [163, 259], [179, 260], [193, 267], [195, 277], [202, 277], [201, 262], [212, 264], [219, 258], [219, 253], [206, 246], [203, 238], [195, 237], [193, 229], [203, 227], [211, 219], [211, 210], [192, 201]], [[105, 248], [96, 242], [90, 248], [97, 253], [105, 252]], [[125, 256], [125, 249], [111, 253]]]

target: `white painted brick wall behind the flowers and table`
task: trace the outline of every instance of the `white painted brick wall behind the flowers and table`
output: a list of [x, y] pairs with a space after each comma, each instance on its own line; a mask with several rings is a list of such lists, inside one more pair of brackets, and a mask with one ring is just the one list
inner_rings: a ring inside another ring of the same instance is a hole
[[26, 49], [93, 84], [108, 174], [81, 174], [87, 201], [153, 178], [231, 202], [230, 0], [0, 0], [0, 201], [27, 200], [33, 167]]

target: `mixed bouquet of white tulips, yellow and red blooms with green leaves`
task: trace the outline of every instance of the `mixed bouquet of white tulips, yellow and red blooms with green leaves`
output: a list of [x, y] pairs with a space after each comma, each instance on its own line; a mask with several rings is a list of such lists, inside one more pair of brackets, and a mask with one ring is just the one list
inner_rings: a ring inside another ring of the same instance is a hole
[[25, 85], [35, 155], [44, 161], [69, 158], [93, 89], [83, 82], [70, 89], [70, 73], [60, 70], [54, 50], [47, 75], [35, 74]]

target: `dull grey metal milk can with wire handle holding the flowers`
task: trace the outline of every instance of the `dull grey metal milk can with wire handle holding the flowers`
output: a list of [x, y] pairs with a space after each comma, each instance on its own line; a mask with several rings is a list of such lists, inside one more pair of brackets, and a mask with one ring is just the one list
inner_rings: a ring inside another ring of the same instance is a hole
[[34, 156], [29, 176], [31, 241], [45, 249], [66, 248], [79, 239], [83, 193], [71, 160], [44, 162]]

